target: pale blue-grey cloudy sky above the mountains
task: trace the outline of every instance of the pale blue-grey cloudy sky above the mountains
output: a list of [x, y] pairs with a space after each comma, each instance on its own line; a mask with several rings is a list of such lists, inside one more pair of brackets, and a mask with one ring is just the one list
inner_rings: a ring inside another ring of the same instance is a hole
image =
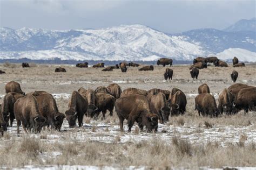
[[166, 33], [225, 29], [256, 15], [255, 1], [0, 0], [0, 27], [100, 29], [142, 24]]

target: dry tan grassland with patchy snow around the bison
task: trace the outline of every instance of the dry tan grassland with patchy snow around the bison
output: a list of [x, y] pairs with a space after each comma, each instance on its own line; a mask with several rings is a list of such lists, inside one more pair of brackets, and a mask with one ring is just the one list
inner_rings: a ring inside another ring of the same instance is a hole
[[[102, 68], [76, 68], [71, 65], [0, 65], [6, 74], [0, 75], [0, 103], [4, 86], [17, 81], [26, 93], [45, 90], [56, 98], [61, 112], [68, 109], [69, 96], [81, 86], [95, 89], [118, 83], [122, 90], [134, 87], [171, 90], [177, 87], [187, 97], [186, 114], [170, 117], [170, 122], [159, 124], [157, 133], [140, 132], [134, 125], [131, 133], [120, 132], [118, 117], [107, 116], [94, 121], [84, 118], [82, 128], [70, 129], [64, 121], [60, 132], [43, 130], [41, 134], [24, 134], [17, 137], [16, 123], [0, 138], [0, 168], [42, 166], [57, 169], [63, 165], [96, 166], [97, 168], [222, 168], [256, 166], [256, 113], [249, 112], [218, 118], [199, 117], [194, 111], [194, 97], [198, 86], [207, 83], [216, 100], [224, 88], [233, 84], [230, 74], [239, 73], [237, 83], [256, 86], [256, 65], [201, 69], [198, 80], [190, 76], [189, 66], [173, 65], [173, 80], [164, 80], [166, 67], [154, 66], [153, 71], [139, 72], [129, 67], [102, 72]], [[55, 73], [64, 67], [66, 73]], [[139, 67], [140, 68], [140, 67]], [[217, 100], [218, 104], [218, 100]], [[108, 115], [108, 114], [107, 114]], [[125, 130], [127, 126], [125, 125]], [[77, 168], [77, 167], [75, 167]]]

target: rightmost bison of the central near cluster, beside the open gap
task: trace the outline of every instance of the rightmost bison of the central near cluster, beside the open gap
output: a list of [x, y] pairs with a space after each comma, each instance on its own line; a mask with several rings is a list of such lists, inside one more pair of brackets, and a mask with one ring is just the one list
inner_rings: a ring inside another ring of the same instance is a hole
[[185, 114], [187, 99], [182, 91], [177, 91], [170, 99], [169, 107], [171, 108], [171, 115]]

